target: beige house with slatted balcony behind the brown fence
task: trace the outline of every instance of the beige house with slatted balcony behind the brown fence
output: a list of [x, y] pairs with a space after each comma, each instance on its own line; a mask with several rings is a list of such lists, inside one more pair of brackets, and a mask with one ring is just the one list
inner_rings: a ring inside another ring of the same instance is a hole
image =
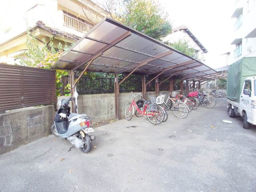
[[26, 52], [30, 28], [42, 44], [54, 37], [54, 44], [70, 45], [108, 16], [90, 0], [9, 0], [1, 2], [0, 63], [19, 63]]

